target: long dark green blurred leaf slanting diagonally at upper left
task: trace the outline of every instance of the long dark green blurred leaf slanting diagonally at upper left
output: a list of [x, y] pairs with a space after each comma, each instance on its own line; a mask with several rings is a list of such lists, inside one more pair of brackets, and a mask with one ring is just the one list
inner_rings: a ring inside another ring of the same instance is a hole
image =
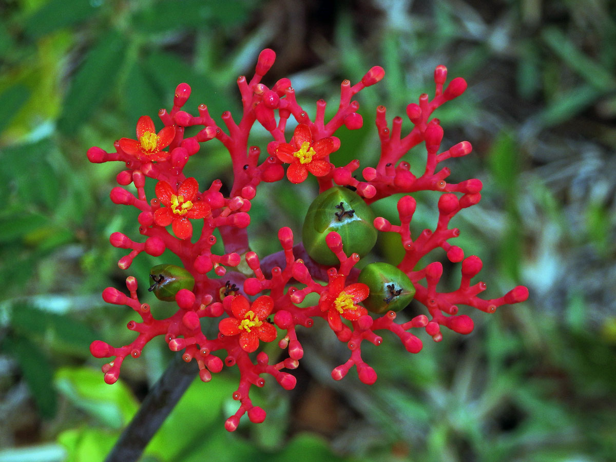
[[100, 36], [68, 89], [58, 122], [61, 132], [74, 132], [99, 108], [113, 89], [125, 52], [126, 40], [115, 30]]

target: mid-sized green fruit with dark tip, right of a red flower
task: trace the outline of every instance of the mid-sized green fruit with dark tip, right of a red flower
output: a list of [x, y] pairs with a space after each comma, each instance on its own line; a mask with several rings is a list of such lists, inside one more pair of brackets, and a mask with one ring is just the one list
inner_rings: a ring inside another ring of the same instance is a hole
[[373, 313], [400, 311], [415, 296], [415, 286], [408, 276], [389, 263], [366, 265], [357, 281], [370, 288], [370, 295], [363, 301], [363, 306]]

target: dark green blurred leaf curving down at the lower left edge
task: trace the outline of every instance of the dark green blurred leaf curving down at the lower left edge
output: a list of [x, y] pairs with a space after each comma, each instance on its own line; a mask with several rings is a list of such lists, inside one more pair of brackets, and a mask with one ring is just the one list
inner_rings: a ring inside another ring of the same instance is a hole
[[17, 359], [41, 415], [54, 417], [57, 410], [55, 391], [51, 389], [54, 370], [47, 355], [30, 339], [19, 335], [5, 339], [3, 349]]

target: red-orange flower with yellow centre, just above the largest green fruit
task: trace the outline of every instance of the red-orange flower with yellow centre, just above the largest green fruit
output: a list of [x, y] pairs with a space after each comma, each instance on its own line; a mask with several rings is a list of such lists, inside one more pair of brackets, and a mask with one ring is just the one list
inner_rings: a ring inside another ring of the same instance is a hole
[[324, 176], [330, 172], [331, 165], [323, 160], [323, 157], [334, 150], [334, 141], [331, 138], [312, 142], [310, 127], [299, 124], [293, 132], [291, 142], [293, 145], [281, 143], [276, 149], [278, 159], [291, 164], [286, 169], [286, 177], [291, 183], [301, 183], [308, 177], [308, 172], [314, 176]]

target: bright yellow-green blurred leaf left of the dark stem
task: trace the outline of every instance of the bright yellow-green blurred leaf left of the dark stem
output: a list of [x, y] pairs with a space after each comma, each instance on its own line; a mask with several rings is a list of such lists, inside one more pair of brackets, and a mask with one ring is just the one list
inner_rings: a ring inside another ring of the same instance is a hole
[[123, 381], [108, 385], [100, 371], [90, 368], [60, 368], [55, 374], [54, 383], [76, 408], [113, 429], [126, 425], [139, 407]]

